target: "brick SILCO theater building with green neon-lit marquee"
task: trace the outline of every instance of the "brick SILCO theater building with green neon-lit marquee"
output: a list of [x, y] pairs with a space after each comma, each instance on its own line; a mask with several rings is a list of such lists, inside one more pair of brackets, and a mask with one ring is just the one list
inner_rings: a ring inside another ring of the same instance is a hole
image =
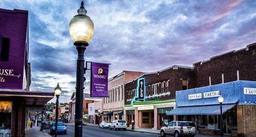
[[[125, 120], [131, 125], [134, 120], [136, 128], [160, 129], [166, 111], [175, 108], [175, 91], [188, 88], [193, 73], [192, 67], [172, 66], [157, 72], [145, 73], [125, 83]], [[145, 78], [145, 100], [131, 105], [137, 92], [137, 80]], [[151, 106], [151, 108], [143, 108]], [[139, 109], [139, 110], [138, 110]], [[146, 119], [144, 117], [147, 117]], [[173, 120], [173, 117], [168, 117]]]

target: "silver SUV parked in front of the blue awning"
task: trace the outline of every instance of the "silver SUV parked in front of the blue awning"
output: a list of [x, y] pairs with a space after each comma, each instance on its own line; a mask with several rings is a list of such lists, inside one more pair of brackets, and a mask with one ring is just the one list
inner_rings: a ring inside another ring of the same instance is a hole
[[167, 126], [163, 126], [160, 129], [162, 137], [168, 135], [180, 136], [192, 136], [196, 134], [195, 124], [189, 121], [172, 121]]

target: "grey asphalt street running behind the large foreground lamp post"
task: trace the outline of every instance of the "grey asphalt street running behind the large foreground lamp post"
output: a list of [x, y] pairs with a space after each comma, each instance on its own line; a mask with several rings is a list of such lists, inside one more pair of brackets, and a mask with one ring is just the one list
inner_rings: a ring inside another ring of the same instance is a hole
[[[58, 134], [58, 137], [74, 137], [75, 124], [65, 123], [67, 125], [67, 134]], [[49, 134], [50, 130], [45, 129]], [[114, 131], [109, 129], [102, 129], [97, 126], [83, 126], [84, 137], [160, 137], [157, 134], [140, 133], [133, 131]], [[54, 137], [54, 135], [52, 135]]]

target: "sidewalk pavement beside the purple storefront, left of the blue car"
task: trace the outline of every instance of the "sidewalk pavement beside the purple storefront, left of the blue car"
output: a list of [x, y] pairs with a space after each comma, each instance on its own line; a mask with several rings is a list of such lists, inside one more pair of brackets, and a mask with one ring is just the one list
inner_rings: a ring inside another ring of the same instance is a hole
[[41, 126], [32, 126], [26, 131], [25, 137], [51, 137], [47, 131], [40, 131]]

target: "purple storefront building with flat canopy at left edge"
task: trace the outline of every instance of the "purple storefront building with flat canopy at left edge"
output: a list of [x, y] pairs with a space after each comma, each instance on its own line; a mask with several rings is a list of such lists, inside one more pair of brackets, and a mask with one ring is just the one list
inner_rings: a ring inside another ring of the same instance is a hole
[[29, 91], [29, 12], [0, 9], [0, 134], [24, 137], [29, 111], [41, 111], [54, 92]]

